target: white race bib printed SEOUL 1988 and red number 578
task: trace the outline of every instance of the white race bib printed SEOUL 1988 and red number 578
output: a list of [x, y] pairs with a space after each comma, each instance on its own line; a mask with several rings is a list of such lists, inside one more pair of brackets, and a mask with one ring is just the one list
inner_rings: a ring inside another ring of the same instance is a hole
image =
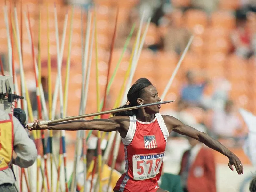
[[133, 179], [144, 180], [156, 177], [164, 158], [163, 153], [132, 156]]

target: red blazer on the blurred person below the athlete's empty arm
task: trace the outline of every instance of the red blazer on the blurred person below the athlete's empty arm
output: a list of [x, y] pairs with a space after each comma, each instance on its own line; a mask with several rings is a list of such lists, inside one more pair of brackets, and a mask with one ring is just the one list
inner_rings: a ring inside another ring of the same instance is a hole
[[[187, 163], [188, 151], [183, 154], [180, 174]], [[215, 161], [211, 149], [202, 147], [190, 165], [187, 180], [188, 192], [216, 192]]]

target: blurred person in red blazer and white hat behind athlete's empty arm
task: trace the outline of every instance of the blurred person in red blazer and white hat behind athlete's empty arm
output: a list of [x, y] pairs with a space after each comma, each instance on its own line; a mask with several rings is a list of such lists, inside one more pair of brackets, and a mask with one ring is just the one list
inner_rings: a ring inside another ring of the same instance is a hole
[[[197, 130], [206, 133], [200, 125]], [[212, 149], [198, 140], [189, 138], [190, 149], [181, 160], [180, 177], [184, 192], [216, 192], [215, 160]]]

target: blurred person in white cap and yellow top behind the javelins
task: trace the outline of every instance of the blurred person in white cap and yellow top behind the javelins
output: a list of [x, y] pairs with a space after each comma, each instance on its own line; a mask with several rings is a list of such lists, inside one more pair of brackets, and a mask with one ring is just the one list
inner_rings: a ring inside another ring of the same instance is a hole
[[[93, 183], [93, 186], [96, 184], [97, 181], [97, 163], [96, 166], [94, 166], [94, 162], [95, 162], [95, 157], [96, 157], [96, 149], [97, 149], [97, 141], [98, 138], [95, 136], [91, 136], [87, 142], [87, 177], [86, 177], [86, 182], [87, 182], [87, 189], [83, 190], [83, 191], [90, 191], [91, 188], [91, 183]], [[104, 152], [104, 150], [106, 149], [107, 146], [107, 140], [103, 139], [100, 145], [100, 148], [102, 150], [102, 153]], [[94, 168], [95, 167], [95, 168]], [[95, 173], [94, 175], [92, 174], [93, 169], [95, 169]], [[115, 169], [113, 170], [112, 173], [112, 179], [110, 182], [110, 186], [108, 189], [108, 181], [109, 181], [109, 176], [110, 176], [110, 172], [111, 172], [111, 167], [109, 167], [107, 164], [102, 165], [102, 173], [101, 173], [101, 183], [102, 183], [102, 192], [112, 192], [113, 188], [116, 185], [117, 180], [120, 178], [121, 173], [119, 173], [118, 171], [116, 171]], [[92, 177], [93, 177], [93, 182], [92, 182]], [[83, 185], [84, 185], [84, 173], [81, 172], [79, 173], [78, 176], [78, 184], [77, 184], [77, 190], [76, 191], [82, 191], [83, 189]], [[94, 188], [92, 187], [92, 191], [94, 191]]]

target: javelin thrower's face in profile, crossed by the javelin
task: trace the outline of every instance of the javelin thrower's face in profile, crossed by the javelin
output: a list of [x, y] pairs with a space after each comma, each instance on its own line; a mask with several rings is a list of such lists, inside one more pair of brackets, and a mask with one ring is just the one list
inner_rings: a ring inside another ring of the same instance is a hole
[[[144, 88], [144, 93], [142, 95], [142, 98], [138, 98], [137, 102], [139, 104], [149, 104], [149, 103], [156, 103], [161, 101], [161, 99], [158, 96], [158, 92], [156, 90], [156, 87], [154, 87], [153, 85], [149, 85], [148, 87]], [[147, 113], [159, 113], [161, 108], [161, 105], [157, 105], [157, 106], [151, 106], [151, 107], [147, 107], [145, 108], [145, 111]]]

